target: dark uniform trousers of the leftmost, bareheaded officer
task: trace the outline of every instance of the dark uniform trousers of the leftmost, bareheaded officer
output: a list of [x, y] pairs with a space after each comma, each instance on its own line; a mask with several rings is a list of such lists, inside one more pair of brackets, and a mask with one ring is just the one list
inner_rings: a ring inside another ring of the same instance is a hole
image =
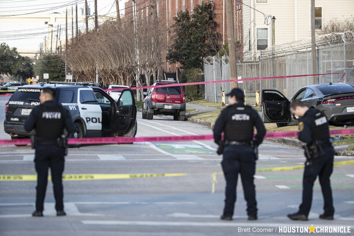
[[35, 169], [37, 172], [36, 210], [42, 212], [50, 168], [55, 197], [55, 209], [63, 210], [64, 148], [57, 145], [38, 145], [35, 152]]

